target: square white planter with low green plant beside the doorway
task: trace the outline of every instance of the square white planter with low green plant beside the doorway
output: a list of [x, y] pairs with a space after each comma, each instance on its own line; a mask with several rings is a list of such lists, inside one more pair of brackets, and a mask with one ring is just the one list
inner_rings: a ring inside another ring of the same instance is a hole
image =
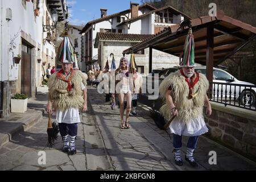
[[27, 96], [16, 93], [11, 97], [11, 113], [24, 113], [27, 111]]

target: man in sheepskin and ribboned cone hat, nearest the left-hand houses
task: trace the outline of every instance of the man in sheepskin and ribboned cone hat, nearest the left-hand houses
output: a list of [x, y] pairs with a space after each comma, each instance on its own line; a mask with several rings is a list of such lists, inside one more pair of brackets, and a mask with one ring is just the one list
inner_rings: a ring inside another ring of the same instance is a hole
[[80, 122], [79, 109], [87, 110], [87, 90], [84, 74], [72, 68], [75, 58], [67, 30], [58, 49], [57, 59], [62, 63], [62, 69], [55, 72], [48, 80], [47, 112], [51, 113], [52, 109], [55, 109], [60, 135], [64, 142], [63, 151], [73, 155], [76, 154], [75, 139], [77, 123]]

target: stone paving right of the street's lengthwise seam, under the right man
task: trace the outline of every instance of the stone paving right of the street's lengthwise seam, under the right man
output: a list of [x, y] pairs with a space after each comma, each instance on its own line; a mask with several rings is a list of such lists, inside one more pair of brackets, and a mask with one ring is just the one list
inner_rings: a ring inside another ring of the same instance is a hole
[[[130, 129], [120, 129], [119, 109], [110, 109], [104, 94], [88, 89], [96, 121], [115, 170], [247, 170], [256, 169], [255, 163], [200, 137], [195, 153], [199, 168], [187, 162], [179, 167], [174, 163], [172, 135], [160, 130], [150, 117], [150, 108], [139, 104], [137, 117], [130, 117]], [[183, 137], [183, 160], [188, 137]], [[216, 151], [217, 165], [210, 165], [209, 151]]]

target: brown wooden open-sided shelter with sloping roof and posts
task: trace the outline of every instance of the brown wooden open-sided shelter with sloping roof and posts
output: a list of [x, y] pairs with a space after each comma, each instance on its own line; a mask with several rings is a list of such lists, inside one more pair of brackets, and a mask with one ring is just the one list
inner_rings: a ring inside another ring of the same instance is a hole
[[[191, 20], [195, 39], [195, 62], [207, 66], [207, 78], [213, 81], [213, 66], [234, 55], [251, 40], [256, 38], [256, 27], [224, 15], [218, 11], [216, 16], [202, 16]], [[152, 49], [180, 56], [183, 51], [188, 27], [178, 30], [179, 24], [135, 44], [123, 51], [129, 54], [145, 48], [149, 52], [149, 72], [152, 71]]]

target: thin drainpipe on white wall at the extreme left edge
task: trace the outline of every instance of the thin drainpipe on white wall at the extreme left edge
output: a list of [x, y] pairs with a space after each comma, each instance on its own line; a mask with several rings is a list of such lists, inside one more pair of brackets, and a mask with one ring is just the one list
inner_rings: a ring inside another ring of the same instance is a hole
[[1, 0], [1, 40], [0, 40], [0, 47], [1, 47], [1, 106], [0, 106], [0, 118], [3, 118], [3, 0]]

